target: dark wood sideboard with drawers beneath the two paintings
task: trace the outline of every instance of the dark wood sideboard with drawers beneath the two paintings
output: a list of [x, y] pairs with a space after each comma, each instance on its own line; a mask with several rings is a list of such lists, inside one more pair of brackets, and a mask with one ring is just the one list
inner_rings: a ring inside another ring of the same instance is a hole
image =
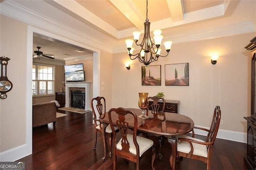
[[[153, 101], [149, 100], [148, 105], [152, 105]], [[165, 100], [165, 106], [164, 106], [164, 112], [169, 113], [179, 113], [179, 103], [178, 100]], [[159, 101], [158, 104], [160, 105], [159, 109], [162, 110], [163, 103], [162, 101]], [[148, 108], [149, 110], [152, 110], [151, 108]]]

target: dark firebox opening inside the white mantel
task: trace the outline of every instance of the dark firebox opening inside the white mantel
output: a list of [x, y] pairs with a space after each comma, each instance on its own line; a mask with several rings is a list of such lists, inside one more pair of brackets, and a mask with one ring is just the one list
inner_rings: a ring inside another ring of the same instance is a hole
[[[72, 87], [76, 88], [76, 87]], [[84, 88], [82, 88], [84, 89]], [[85, 89], [81, 90], [70, 90], [70, 106], [79, 109], [85, 109]]]

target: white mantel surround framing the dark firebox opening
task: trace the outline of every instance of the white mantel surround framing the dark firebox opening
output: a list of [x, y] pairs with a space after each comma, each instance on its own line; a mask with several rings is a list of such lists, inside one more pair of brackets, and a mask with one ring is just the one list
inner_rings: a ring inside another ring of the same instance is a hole
[[70, 96], [69, 88], [70, 87], [82, 87], [85, 88], [85, 110], [88, 111], [90, 106], [90, 83], [89, 81], [79, 81], [79, 82], [63, 82], [66, 84], [65, 95], [66, 95], [66, 104], [65, 107], [70, 107]]

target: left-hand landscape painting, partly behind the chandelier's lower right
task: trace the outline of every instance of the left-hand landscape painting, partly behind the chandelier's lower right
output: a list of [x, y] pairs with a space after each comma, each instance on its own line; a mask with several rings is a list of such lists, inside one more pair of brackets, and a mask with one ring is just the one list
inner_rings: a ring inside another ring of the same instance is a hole
[[161, 65], [142, 66], [141, 85], [161, 85]]

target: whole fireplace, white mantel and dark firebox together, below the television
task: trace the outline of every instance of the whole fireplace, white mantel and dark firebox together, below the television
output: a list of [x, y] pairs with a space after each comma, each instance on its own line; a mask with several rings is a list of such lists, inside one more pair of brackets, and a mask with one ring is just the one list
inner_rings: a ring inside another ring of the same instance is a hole
[[[65, 107], [76, 107], [90, 110], [90, 82], [65, 82], [66, 83], [66, 104]], [[75, 98], [72, 95], [75, 93]], [[72, 97], [73, 96], [73, 97]], [[73, 101], [72, 101], [73, 100]], [[74, 102], [72, 104], [72, 102]], [[74, 105], [74, 106], [73, 106]]]

